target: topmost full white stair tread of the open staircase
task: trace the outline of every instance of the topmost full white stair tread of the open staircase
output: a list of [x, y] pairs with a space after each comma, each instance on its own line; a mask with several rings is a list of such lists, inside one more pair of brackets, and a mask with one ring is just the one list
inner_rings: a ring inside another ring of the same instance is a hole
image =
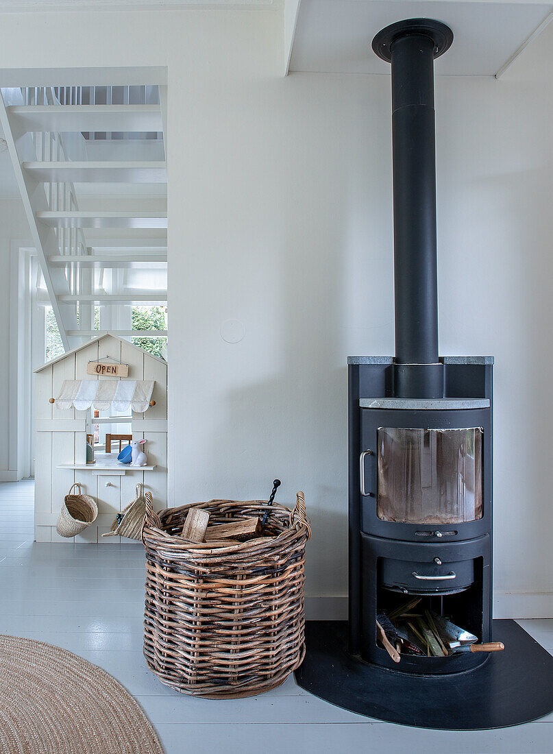
[[12, 105], [26, 131], [163, 131], [159, 105]]

